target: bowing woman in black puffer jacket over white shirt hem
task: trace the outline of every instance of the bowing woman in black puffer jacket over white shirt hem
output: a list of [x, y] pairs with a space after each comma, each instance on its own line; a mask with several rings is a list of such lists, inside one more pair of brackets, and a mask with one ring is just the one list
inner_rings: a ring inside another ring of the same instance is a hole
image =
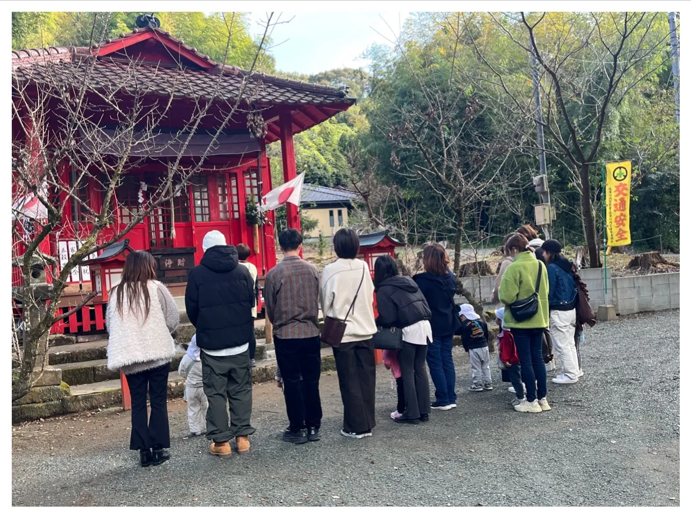
[[406, 410], [397, 423], [429, 421], [430, 387], [425, 368], [427, 346], [432, 341], [430, 308], [422, 291], [410, 277], [398, 274], [391, 256], [375, 262], [377, 326], [403, 330], [403, 349], [399, 352]]

